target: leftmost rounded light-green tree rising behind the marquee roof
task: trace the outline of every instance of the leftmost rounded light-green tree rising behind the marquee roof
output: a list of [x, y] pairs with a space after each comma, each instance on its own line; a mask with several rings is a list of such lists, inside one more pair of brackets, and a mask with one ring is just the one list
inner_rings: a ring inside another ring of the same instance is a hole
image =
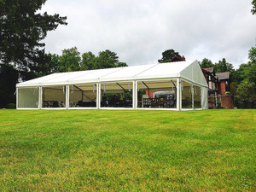
[[80, 70], [81, 57], [77, 47], [62, 50], [60, 56], [60, 71], [74, 72]]

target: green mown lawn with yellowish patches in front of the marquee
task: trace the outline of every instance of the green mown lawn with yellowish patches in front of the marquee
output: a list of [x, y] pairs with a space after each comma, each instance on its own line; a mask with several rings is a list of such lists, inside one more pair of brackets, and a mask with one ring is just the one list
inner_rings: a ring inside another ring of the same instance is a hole
[[3, 191], [255, 191], [256, 110], [0, 110]]

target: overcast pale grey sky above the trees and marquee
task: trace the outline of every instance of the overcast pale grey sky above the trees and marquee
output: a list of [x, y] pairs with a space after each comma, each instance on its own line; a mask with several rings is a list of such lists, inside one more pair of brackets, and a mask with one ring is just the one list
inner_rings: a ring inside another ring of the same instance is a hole
[[256, 44], [252, 0], [48, 0], [42, 11], [67, 16], [46, 51], [110, 49], [129, 66], [155, 63], [166, 49], [186, 60], [222, 58], [236, 68]]

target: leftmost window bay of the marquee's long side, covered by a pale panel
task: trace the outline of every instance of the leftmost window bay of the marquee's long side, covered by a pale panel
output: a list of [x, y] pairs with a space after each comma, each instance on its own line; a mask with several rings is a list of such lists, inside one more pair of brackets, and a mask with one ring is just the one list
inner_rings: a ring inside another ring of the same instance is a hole
[[38, 87], [19, 88], [18, 108], [38, 108]]

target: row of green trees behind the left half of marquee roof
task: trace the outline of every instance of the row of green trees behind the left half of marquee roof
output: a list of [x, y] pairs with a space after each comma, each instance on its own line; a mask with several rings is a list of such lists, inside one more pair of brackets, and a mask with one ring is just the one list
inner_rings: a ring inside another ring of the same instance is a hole
[[34, 79], [50, 73], [74, 72], [101, 68], [127, 67], [125, 62], [119, 61], [119, 56], [109, 50], [103, 50], [94, 55], [91, 51], [80, 54], [77, 47], [63, 49], [61, 55], [46, 54], [46, 61], [32, 67], [29, 78]]

